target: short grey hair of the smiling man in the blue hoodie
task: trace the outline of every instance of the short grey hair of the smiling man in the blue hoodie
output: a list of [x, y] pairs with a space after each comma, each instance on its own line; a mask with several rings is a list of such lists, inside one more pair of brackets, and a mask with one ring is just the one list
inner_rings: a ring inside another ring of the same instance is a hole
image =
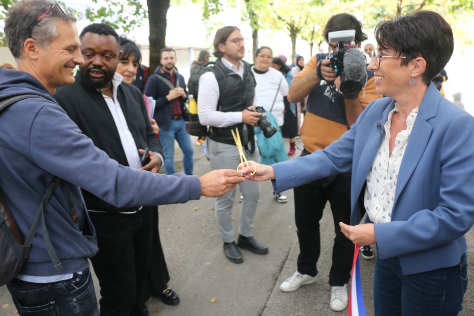
[[[14, 3], [7, 12], [5, 19], [5, 37], [13, 57], [18, 61], [22, 58], [23, 43], [29, 38], [30, 25], [41, 14], [54, 4], [51, 0], [22, 0]], [[64, 20], [70, 23], [77, 21], [76, 17], [68, 11], [68, 15], [55, 6], [46, 14], [32, 30], [32, 38], [44, 48], [49, 48], [49, 43], [58, 37], [56, 22]]]

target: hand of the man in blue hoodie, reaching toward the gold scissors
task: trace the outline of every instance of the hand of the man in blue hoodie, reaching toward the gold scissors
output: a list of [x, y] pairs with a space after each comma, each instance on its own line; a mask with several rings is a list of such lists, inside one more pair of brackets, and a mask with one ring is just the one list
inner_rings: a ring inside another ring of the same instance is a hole
[[213, 170], [199, 177], [201, 195], [204, 197], [221, 197], [236, 187], [237, 183], [245, 181], [242, 174], [236, 170]]

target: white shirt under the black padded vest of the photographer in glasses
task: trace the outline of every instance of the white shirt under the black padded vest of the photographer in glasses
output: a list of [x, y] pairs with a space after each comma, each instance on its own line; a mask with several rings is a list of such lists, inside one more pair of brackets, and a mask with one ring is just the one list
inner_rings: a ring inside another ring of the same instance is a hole
[[[238, 69], [230, 61], [221, 58], [222, 63], [234, 71], [243, 80], [243, 62], [239, 61]], [[227, 127], [242, 122], [242, 112], [220, 112], [217, 111], [219, 101], [219, 84], [212, 72], [207, 72], [199, 78], [199, 97], [197, 98], [197, 113], [202, 125], [215, 127]]]

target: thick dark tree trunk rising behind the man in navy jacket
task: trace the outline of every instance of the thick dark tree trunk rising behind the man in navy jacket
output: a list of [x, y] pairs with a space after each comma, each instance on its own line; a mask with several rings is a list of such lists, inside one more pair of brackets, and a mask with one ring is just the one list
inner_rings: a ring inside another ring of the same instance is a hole
[[150, 25], [150, 72], [159, 65], [159, 51], [166, 46], [166, 14], [170, 0], [147, 0]]

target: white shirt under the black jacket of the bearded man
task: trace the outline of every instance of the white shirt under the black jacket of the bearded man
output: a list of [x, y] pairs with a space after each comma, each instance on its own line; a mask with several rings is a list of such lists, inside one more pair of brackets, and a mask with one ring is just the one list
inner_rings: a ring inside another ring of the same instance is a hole
[[118, 136], [120, 137], [120, 143], [122, 144], [123, 151], [127, 158], [128, 166], [132, 169], [140, 169], [142, 163], [140, 161], [140, 156], [138, 154], [137, 145], [133, 139], [132, 133], [128, 128], [127, 121], [123, 115], [122, 108], [117, 99], [117, 89], [118, 85], [122, 82], [123, 77], [118, 73], [115, 73], [114, 78], [112, 79], [112, 91], [113, 99], [102, 94], [104, 97], [107, 106], [109, 107], [112, 118], [114, 118], [115, 126], [117, 127]]

